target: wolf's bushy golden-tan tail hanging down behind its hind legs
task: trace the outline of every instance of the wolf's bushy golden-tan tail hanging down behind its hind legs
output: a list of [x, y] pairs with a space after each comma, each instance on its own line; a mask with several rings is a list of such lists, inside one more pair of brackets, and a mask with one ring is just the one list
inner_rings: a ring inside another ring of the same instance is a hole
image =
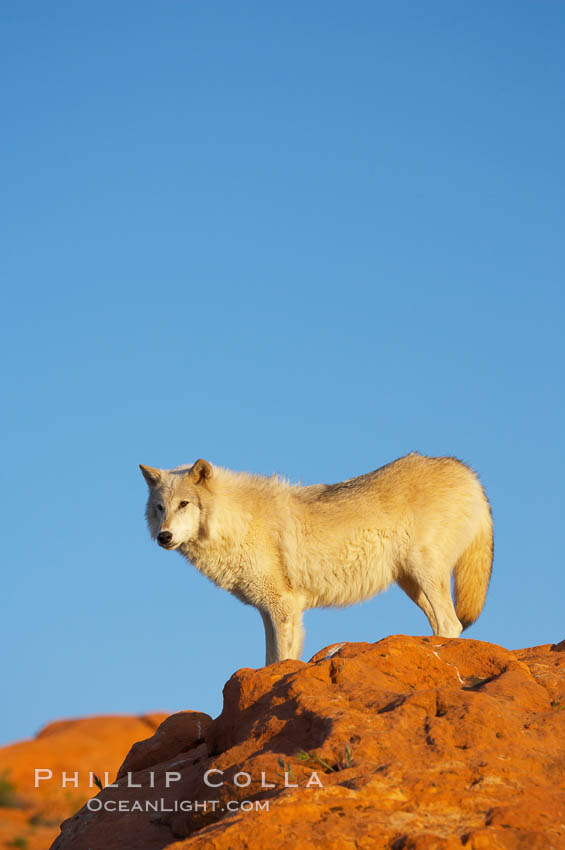
[[493, 554], [492, 517], [487, 507], [481, 528], [455, 565], [455, 611], [464, 629], [472, 625], [483, 610]]

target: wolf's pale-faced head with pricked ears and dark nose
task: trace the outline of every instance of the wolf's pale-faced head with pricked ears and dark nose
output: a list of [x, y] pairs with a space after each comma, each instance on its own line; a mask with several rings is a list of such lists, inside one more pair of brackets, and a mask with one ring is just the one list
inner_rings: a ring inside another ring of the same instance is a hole
[[181, 469], [139, 468], [149, 487], [145, 516], [149, 532], [163, 549], [177, 549], [196, 540], [203, 531], [211, 464], [197, 460]]

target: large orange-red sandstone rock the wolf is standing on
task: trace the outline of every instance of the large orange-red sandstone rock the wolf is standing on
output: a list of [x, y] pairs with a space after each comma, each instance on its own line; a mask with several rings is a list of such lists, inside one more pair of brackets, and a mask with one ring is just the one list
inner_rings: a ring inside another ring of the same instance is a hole
[[393, 636], [240, 670], [53, 850], [565, 848], [564, 669], [565, 642]]

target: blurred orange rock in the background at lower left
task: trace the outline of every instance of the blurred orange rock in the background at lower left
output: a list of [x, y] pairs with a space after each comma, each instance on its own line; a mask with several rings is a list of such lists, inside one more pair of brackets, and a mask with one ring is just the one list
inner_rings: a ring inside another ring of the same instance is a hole
[[[60, 720], [32, 740], [1, 748], [0, 847], [49, 847], [61, 820], [96, 793], [90, 774], [102, 782], [107, 774], [111, 781], [124, 752], [166, 717], [158, 713]], [[41, 771], [37, 787], [36, 768]]]

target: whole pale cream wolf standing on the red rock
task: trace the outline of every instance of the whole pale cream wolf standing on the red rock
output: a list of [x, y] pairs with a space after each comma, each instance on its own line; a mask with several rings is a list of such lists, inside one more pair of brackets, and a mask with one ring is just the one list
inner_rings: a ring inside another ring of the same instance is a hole
[[151, 536], [258, 609], [267, 664], [299, 658], [306, 609], [359, 602], [392, 582], [434, 635], [458, 637], [481, 613], [491, 513], [478, 478], [455, 458], [409, 454], [311, 487], [204, 460], [141, 471]]

